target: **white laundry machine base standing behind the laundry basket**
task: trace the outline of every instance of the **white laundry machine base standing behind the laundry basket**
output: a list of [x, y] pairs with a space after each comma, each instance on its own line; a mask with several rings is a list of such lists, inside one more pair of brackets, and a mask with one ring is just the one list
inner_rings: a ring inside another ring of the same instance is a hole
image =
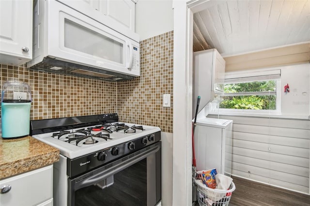
[[218, 174], [232, 174], [233, 121], [203, 118], [194, 133], [197, 171], [217, 169]]

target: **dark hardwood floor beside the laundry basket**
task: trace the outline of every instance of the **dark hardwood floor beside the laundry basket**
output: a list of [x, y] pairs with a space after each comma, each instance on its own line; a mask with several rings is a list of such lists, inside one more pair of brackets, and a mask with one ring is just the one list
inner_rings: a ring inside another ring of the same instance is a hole
[[310, 206], [310, 195], [232, 177], [236, 186], [229, 206]]

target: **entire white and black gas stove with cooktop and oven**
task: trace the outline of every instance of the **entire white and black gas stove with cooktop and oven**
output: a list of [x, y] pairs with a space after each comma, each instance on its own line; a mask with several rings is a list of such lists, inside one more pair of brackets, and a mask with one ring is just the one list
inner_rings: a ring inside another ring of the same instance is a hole
[[60, 150], [53, 170], [55, 205], [160, 203], [160, 128], [118, 120], [111, 113], [31, 121], [32, 137]]

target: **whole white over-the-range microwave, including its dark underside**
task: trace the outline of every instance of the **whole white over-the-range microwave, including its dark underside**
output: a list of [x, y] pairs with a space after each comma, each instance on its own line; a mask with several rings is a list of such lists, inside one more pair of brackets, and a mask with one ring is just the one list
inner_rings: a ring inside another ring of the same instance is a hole
[[139, 35], [124, 35], [96, 10], [85, 11], [60, 0], [35, 1], [28, 68], [112, 81], [140, 76]]

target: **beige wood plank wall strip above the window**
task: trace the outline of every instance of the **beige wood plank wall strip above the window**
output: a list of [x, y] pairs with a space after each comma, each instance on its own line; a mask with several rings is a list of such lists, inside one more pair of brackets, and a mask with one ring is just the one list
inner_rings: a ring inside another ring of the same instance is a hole
[[224, 57], [226, 72], [310, 62], [310, 43]]

